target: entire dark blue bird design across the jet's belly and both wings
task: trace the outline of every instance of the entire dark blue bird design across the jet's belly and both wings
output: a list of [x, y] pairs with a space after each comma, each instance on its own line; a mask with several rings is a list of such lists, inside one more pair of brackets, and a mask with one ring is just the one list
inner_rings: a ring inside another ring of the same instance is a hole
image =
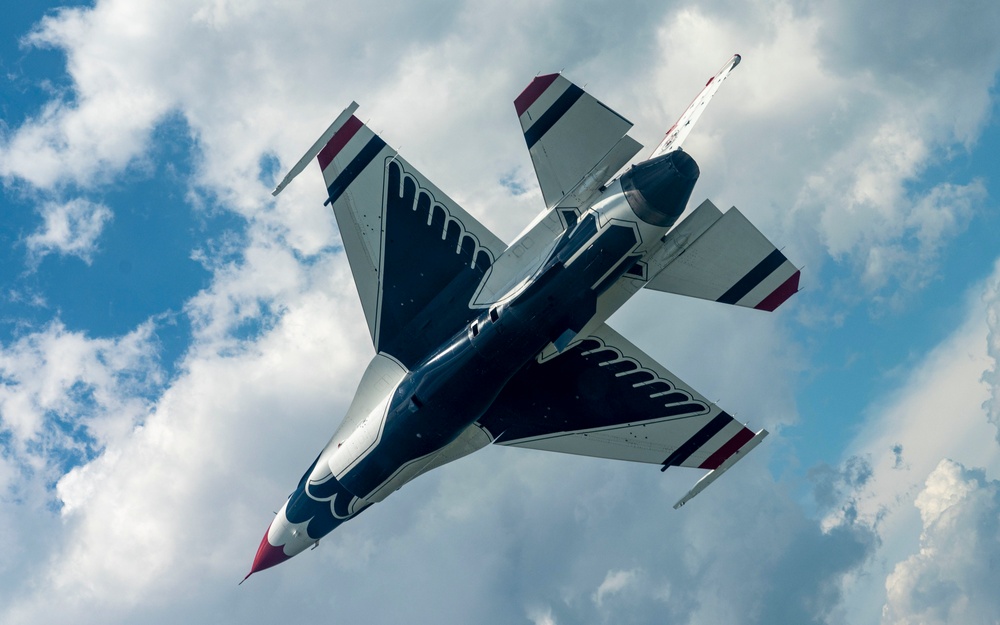
[[[582, 328], [603, 290], [635, 266], [634, 228], [599, 228], [586, 215], [561, 236], [533, 287], [502, 308], [474, 311], [468, 301], [492, 262], [489, 254], [398, 162], [386, 171], [377, 347], [410, 371], [393, 393], [377, 446], [337, 479], [303, 482], [293, 495], [289, 519], [309, 520], [311, 537], [342, 522], [348, 495], [370, 498], [481, 418], [509, 441], [708, 410], [597, 340], [552, 362], [535, 361], [548, 343]], [[649, 384], [637, 390], [639, 382]]]

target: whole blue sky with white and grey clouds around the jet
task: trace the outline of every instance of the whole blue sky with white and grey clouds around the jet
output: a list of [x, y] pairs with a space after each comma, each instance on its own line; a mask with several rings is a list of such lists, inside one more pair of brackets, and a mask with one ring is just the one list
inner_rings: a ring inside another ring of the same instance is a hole
[[[0, 622], [1000, 621], [1000, 5], [97, 0], [0, 25]], [[510, 241], [562, 71], [802, 265], [611, 325], [771, 436], [699, 477], [487, 448], [237, 586], [372, 355], [318, 168], [352, 100]]]

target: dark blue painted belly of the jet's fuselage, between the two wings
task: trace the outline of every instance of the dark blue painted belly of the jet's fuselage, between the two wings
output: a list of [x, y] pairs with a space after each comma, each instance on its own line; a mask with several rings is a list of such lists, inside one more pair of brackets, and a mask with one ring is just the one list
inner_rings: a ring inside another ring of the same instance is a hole
[[411, 370], [390, 403], [378, 447], [340, 476], [341, 483], [367, 497], [401, 466], [453, 441], [546, 344], [593, 316], [594, 285], [606, 283], [601, 278], [609, 272], [625, 271], [630, 265], [623, 260], [637, 242], [632, 228], [598, 231], [593, 215], [582, 219], [543, 265], [536, 288], [501, 309], [496, 320], [481, 311], [475, 337], [463, 326]]

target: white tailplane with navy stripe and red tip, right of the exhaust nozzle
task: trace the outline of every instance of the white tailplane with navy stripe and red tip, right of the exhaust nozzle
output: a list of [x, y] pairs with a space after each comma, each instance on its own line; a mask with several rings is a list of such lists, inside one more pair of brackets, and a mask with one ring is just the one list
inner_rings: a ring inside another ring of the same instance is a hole
[[799, 289], [799, 269], [736, 207], [705, 200], [649, 259], [647, 288], [773, 311]]

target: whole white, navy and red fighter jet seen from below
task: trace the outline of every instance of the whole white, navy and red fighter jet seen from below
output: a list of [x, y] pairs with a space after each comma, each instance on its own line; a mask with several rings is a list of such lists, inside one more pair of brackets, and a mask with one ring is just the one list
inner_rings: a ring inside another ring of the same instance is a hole
[[356, 103], [337, 117], [274, 195], [316, 158], [376, 353], [247, 577], [491, 443], [708, 469], [675, 507], [760, 443], [766, 430], [606, 323], [642, 288], [767, 311], [798, 290], [799, 270], [735, 207], [686, 212], [699, 169], [681, 144], [739, 62], [618, 177], [642, 149], [632, 124], [561, 74], [537, 76], [514, 108], [545, 209], [510, 245], [359, 121]]

